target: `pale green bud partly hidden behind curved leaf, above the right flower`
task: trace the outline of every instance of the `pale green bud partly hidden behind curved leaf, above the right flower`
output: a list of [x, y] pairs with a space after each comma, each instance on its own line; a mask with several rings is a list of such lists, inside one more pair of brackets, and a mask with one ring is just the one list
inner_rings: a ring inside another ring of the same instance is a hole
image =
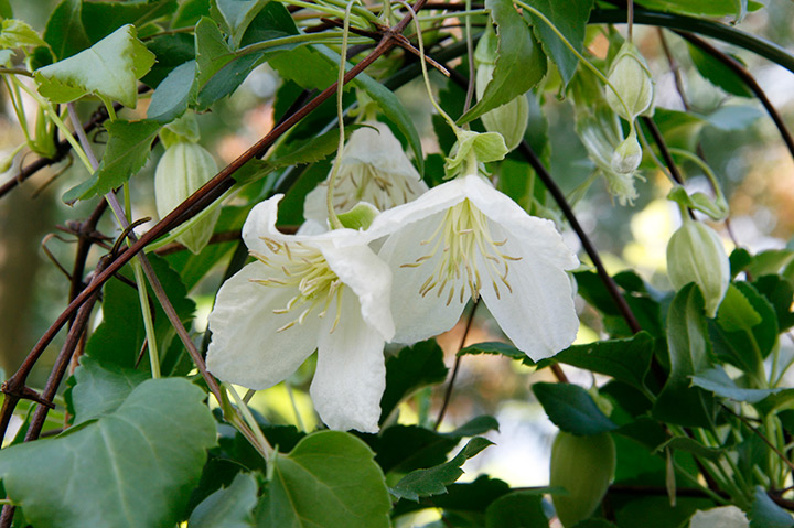
[[[478, 99], [481, 99], [485, 88], [493, 78], [496, 63], [496, 35], [493, 30], [486, 30], [478, 43], [474, 58], [478, 63], [474, 87]], [[482, 116], [483, 126], [489, 132], [498, 132], [505, 140], [507, 149], [513, 150], [524, 139], [529, 122], [529, 101], [526, 95], [521, 95], [504, 105], [486, 111]]]

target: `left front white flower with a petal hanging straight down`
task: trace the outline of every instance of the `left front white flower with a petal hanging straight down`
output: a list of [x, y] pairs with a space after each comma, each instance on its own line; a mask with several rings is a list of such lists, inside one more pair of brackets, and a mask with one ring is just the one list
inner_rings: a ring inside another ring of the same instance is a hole
[[218, 291], [207, 368], [251, 389], [282, 381], [318, 349], [314, 406], [332, 429], [376, 432], [394, 336], [391, 272], [362, 231], [276, 229], [277, 195], [251, 209], [243, 238], [257, 261]]

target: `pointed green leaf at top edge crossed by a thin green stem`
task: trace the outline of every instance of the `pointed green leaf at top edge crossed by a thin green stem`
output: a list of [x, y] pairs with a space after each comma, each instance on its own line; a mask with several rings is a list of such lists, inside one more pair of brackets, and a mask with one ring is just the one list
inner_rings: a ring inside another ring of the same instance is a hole
[[[569, 0], [567, 2], [527, 0], [527, 3], [546, 15], [573, 49], [579, 53], [583, 53], [584, 31], [593, 7], [593, 0]], [[546, 54], [557, 64], [564, 85], [568, 86], [579, 65], [579, 58], [546, 22], [529, 12], [526, 12], [525, 17], [532, 19], [535, 35], [538, 41], [543, 42]]]

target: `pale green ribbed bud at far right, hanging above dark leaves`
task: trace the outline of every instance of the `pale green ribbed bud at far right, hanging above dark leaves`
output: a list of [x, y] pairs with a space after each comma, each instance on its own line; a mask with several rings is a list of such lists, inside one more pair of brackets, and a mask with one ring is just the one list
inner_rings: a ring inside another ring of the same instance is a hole
[[719, 235], [706, 224], [685, 219], [667, 243], [667, 276], [676, 290], [695, 282], [706, 299], [706, 314], [713, 317], [730, 283]]

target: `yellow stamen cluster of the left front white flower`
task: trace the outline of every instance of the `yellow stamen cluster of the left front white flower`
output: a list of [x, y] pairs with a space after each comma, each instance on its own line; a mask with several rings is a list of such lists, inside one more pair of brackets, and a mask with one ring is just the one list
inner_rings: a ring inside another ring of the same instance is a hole
[[297, 291], [285, 308], [273, 310], [275, 314], [298, 313], [297, 319], [285, 324], [277, 332], [283, 332], [296, 324], [302, 324], [309, 313], [322, 306], [318, 317], [324, 317], [332, 302], [336, 302], [336, 319], [331, 332], [336, 328], [342, 313], [342, 291], [344, 283], [336, 277], [325, 257], [313, 247], [302, 243], [283, 243], [272, 238], [260, 237], [270, 255], [251, 251], [261, 263], [278, 272], [278, 277], [255, 279], [251, 282], [266, 287], [291, 288]]

